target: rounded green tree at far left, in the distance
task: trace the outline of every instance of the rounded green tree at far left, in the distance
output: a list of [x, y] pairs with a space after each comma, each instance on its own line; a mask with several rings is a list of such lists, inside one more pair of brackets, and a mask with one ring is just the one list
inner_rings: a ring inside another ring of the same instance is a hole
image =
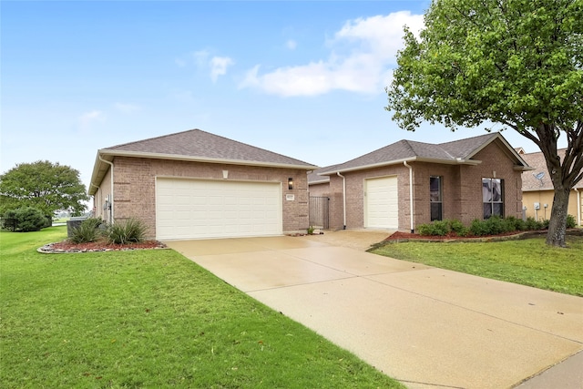
[[53, 216], [56, 210], [74, 215], [86, 210], [89, 200], [79, 171], [68, 166], [39, 160], [21, 163], [0, 176], [0, 208], [5, 210], [34, 207]]

